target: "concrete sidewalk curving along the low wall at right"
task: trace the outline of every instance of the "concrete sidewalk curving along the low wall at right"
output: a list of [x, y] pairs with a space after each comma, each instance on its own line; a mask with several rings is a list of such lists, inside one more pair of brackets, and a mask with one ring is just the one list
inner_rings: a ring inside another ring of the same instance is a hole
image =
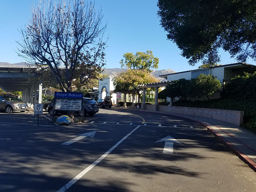
[[[117, 108], [117, 107], [113, 107]], [[138, 110], [133, 108], [123, 108], [120, 109], [128, 110]], [[215, 137], [218, 137], [225, 145], [227, 145], [231, 150], [246, 164], [248, 164], [256, 172], [256, 134], [247, 131], [237, 125], [227, 123], [224, 121], [219, 121], [216, 119], [210, 119], [200, 116], [189, 116], [166, 113], [162, 111], [149, 111], [141, 110], [143, 112], [150, 113], [160, 113], [169, 114], [173, 116], [183, 117], [190, 120], [194, 120], [203, 124], [207, 129], [212, 132]]]

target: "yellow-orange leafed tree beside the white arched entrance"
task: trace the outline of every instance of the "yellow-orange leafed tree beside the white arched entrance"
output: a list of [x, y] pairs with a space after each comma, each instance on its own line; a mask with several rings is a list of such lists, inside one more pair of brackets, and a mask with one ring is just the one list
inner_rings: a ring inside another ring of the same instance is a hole
[[150, 72], [146, 69], [128, 69], [125, 72], [119, 73], [113, 78], [113, 85], [115, 87], [115, 92], [126, 92], [137, 90], [136, 93], [141, 95], [141, 89], [138, 88], [139, 84], [155, 83], [159, 80], [150, 75]]

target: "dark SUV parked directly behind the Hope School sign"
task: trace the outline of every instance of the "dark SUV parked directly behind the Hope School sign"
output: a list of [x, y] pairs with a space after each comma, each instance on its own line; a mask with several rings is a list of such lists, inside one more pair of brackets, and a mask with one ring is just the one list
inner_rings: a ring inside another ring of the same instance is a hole
[[[50, 103], [47, 108], [47, 111], [50, 115], [52, 115], [52, 108], [53, 108], [53, 103]], [[89, 116], [93, 116], [95, 113], [98, 113], [98, 112], [99, 112], [98, 103], [92, 98], [84, 97], [84, 116], [86, 116], [86, 114], [88, 114]], [[56, 113], [67, 114], [67, 111], [55, 110], [55, 114]], [[83, 114], [82, 111], [79, 111], [79, 113], [76, 112], [77, 116], [83, 116], [82, 114]]]

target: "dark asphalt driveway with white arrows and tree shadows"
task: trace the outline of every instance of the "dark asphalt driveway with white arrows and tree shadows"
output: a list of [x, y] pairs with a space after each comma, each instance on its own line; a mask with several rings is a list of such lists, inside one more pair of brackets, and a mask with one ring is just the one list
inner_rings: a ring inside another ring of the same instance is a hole
[[71, 126], [45, 116], [36, 127], [0, 113], [0, 191], [256, 191], [255, 172], [196, 122], [113, 108]]

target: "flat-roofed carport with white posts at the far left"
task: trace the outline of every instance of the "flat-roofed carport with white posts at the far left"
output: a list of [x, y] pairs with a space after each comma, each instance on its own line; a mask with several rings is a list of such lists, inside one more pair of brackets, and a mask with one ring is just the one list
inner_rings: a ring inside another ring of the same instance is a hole
[[42, 89], [47, 83], [51, 83], [49, 79], [40, 82], [31, 81], [39, 76], [37, 71], [33, 72], [35, 69], [36, 66], [27, 66], [25, 63], [0, 65], [0, 88], [5, 92], [21, 91], [22, 100], [28, 103], [28, 107], [33, 108], [33, 102], [42, 103]]

